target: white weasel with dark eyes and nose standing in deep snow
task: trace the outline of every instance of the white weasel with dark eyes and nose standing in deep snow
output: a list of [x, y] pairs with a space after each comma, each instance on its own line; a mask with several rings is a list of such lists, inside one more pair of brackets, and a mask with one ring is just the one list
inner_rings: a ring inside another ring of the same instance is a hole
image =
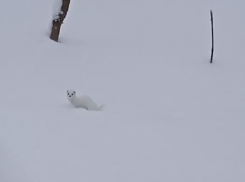
[[67, 90], [67, 98], [71, 105], [76, 108], [85, 108], [87, 110], [99, 111], [103, 106], [98, 106], [89, 96], [82, 95], [80, 97], [76, 96], [74, 90]]

